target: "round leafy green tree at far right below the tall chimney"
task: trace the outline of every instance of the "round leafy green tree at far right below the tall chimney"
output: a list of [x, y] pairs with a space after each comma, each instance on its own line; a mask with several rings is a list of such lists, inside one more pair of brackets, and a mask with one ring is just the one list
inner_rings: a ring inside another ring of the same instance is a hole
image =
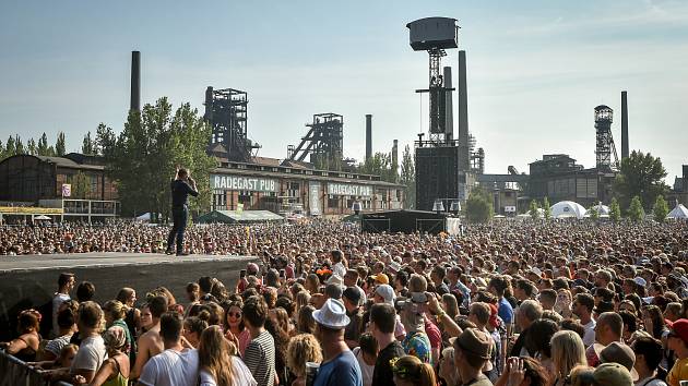
[[614, 180], [614, 191], [621, 206], [629, 205], [633, 196], [650, 205], [657, 195], [668, 191], [668, 186], [663, 182], [665, 177], [666, 170], [659, 157], [633, 150], [628, 158], [621, 160], [619, 173]]

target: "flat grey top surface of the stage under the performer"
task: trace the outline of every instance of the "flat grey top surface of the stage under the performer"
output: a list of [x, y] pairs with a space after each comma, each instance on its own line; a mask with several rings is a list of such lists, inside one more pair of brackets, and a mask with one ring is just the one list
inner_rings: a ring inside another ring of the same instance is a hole
[[[159, 253], [120, 253], [120, 252], [92, 252], [51, 255], [21, 255], [0, 256], [0, 274], [26, 273], [55, 269], [73, 268], [106, 268], [115, 266], [138, 266], [151, 264], [177, 264], [177, 263], [210, 263], [210, 262], [237, 262], [253, 261], [252, 256], [227, 255], [189, 255], [175, 256]], [[57, 280], [57, 277], [56, 277]]]

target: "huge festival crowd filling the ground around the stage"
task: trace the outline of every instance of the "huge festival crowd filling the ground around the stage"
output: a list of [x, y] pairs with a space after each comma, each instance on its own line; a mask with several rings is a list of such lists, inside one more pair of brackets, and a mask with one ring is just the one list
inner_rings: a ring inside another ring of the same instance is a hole
[[[162, 252], [167, 230], [11, 228], [0, 243], [14, 254]], [[123, 287], [102, 304], [97, 284], [62, 274], [52, 312], [23, 311], [7, 352], [88, 385], [688, 381], [685, 222], [505, 222], [452, 237], [313, 221], [197, 226], [186, 240], [187, 251], [259, 262], [236, 282], [204, 276], [143, 300]]]

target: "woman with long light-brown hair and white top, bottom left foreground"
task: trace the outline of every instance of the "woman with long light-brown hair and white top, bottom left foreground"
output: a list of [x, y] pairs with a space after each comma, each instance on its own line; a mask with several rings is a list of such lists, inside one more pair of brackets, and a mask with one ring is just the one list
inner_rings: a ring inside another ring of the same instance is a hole
[[220, 326], [201, 334], [199, 345], [200, 386], [256, 386], [251, 371], [236, 355]]

